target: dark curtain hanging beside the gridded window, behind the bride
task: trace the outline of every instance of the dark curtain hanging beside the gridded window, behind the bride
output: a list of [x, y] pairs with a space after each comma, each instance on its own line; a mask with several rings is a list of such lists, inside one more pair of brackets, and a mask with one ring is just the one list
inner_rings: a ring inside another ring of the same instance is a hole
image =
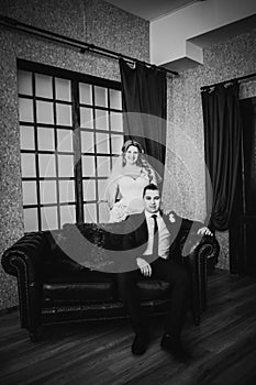
[[166, 73], [120, 59], [123, 123], [126, 139], [142, 144], [148, 162], [164, 176], [166, 154]]

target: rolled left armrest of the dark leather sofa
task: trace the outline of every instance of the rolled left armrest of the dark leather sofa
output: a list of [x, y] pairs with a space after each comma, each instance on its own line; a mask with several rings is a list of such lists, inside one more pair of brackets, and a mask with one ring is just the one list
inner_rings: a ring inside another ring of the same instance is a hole
[[46, 232], [27, 233], [3, 253], [1, 261], [3, 270], [18, 278], [21, 327], [31, 332], [41, 322], [42, 264], [47, 248]]

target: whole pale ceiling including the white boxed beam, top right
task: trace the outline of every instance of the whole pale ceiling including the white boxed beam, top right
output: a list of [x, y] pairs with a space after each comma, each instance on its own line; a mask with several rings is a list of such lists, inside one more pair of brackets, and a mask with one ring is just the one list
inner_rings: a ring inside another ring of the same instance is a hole
[[203, 64], [203, 48], [255, 28], [255, 0], [104, 0], [149, 22], [151, 63]]

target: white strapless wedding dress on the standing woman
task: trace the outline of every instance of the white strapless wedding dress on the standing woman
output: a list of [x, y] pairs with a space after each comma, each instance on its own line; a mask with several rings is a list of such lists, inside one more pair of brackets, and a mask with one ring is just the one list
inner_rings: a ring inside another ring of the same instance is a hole
[[137, 177], [121, 175], [116, 182], [121, 199], [110, 211], [110, 222], [120, 222], [131, 213], [143, 211], [143, 190], [149, 184], [149, 177], [147, 173], [141, 173]]

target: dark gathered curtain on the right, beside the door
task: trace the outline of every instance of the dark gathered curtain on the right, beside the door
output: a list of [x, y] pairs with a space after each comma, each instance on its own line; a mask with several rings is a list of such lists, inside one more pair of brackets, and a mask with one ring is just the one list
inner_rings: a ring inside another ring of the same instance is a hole
[[[202, 91], [204, 152], [210, 179], [207, 178], [207, 206], [210, 227], [227, 230], [234, 220], [240, 179], [242, 120], [238, 82]], [[212, 189], [212, 194], [211, 194]]]

